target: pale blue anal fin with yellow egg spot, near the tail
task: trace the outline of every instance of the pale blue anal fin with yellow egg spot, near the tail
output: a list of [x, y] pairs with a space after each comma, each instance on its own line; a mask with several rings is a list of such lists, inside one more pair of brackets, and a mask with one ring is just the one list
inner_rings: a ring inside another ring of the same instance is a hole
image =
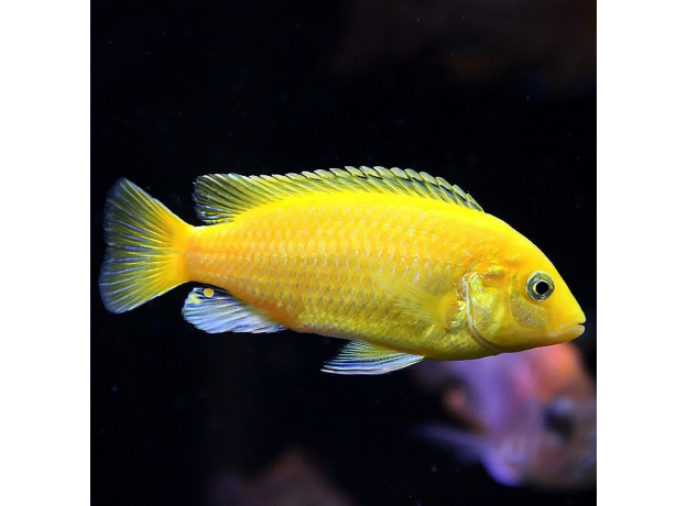
[[285, 329], [218, 288], [194, 288], [186, 297], [182, 315], [186, 321], [208, 333], [268, 333]]

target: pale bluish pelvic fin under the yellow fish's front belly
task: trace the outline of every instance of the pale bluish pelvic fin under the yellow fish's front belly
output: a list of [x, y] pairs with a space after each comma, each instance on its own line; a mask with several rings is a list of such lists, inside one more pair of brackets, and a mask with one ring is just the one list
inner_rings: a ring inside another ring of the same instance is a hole
[[424, 356], [402, 353], [364, 341], [351, 341], [323, 371], [334, 374], [386, 374], [416, 364]]

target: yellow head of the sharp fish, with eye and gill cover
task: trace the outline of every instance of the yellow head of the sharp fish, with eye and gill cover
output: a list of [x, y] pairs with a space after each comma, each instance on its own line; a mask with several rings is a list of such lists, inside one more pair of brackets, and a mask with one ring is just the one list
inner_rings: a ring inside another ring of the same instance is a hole
[[467, 318], [473, 337], [500, 353], [581, 336], [585, 314], [554, 265], [526, 240], [516, 251], [466, 276]]

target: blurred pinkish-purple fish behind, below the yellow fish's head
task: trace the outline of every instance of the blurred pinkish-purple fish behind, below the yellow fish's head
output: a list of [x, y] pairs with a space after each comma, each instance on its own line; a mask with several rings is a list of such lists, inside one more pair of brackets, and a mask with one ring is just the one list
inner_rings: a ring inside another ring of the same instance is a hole
[[421, 437], [464, 462], [481, 462], [503, 485], [584, 488], [596, 484], [596, 386], [570, 343], [413, 371], [438, 394], [451, 422]]

